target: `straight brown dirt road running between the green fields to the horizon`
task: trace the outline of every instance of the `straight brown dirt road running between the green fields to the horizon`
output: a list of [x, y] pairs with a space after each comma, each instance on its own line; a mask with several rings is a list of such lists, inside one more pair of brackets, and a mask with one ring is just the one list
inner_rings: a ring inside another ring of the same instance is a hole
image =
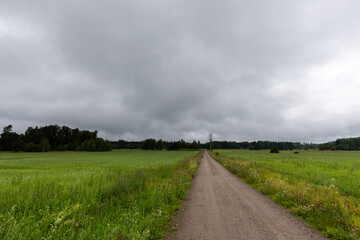
[[165, 239], [324, 239], [231, 174], [207, 152]]

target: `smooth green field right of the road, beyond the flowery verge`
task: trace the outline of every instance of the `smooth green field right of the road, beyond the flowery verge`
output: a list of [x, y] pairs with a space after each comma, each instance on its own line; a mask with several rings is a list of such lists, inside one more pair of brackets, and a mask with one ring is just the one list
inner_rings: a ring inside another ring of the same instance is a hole
[[360, 198], [360, 152], [345, 151], [226, 151], [221, 155], [241, 159], [261, 168], [317, 185], [336, 185], [345, 195]]

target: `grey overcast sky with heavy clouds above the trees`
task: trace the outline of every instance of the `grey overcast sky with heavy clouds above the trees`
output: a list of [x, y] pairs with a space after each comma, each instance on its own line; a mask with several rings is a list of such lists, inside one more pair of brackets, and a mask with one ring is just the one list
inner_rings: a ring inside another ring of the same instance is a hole
[[358, 0], [0, 2], [0, 127], [360, 136]]

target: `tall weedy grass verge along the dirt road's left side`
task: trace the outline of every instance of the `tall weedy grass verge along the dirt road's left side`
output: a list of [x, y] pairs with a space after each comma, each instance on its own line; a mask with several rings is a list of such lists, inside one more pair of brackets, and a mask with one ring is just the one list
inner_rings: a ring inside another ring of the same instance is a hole
[[23, 184], [0, 201], [0, 239], [161, 239], [202, 154], [113, 169], [72, 186], [41, 178]]

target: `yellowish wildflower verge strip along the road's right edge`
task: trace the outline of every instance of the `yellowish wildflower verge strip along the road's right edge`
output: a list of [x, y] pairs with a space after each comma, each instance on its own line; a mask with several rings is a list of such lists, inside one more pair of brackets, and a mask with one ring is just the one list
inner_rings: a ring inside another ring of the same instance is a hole
[[263, 169], [252, 162], [210, 155], [231, 173], [288, 208], [332, 239], [360, 239], [360, 200], [342, 195], [336, 185], [321, 186]]

